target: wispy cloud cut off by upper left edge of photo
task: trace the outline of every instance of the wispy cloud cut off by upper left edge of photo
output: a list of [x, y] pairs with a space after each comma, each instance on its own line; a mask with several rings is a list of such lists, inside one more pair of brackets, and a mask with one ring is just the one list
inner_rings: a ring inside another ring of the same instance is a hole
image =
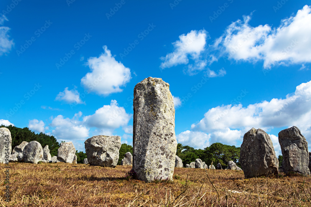
[[[3, 25], [4, 21], [8, 21], [7, 17], [3, 14], [0, 16], [0, 25]], [[13, 40], [10, 39], [9, 33], [10, 28], [5, 26], [0, 26], [0, 56], [8, 53], [12, 46], [14, 46]]]

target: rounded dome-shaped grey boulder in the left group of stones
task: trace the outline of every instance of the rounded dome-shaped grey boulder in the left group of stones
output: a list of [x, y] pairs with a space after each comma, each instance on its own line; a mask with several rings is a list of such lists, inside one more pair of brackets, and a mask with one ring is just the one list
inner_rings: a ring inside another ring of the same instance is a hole
[[37, 164], [43, 160], [43, 149], [39, 142], [29, 142], [23, 150], [23, 161], [28, 163]]

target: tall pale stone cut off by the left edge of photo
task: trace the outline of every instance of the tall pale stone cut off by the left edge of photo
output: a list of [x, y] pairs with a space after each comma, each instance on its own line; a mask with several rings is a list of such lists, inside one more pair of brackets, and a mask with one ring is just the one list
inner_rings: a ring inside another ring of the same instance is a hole
[[12, 137], [8, 128], [0, 128], [0, 163], [8, 163], [12, 152]]

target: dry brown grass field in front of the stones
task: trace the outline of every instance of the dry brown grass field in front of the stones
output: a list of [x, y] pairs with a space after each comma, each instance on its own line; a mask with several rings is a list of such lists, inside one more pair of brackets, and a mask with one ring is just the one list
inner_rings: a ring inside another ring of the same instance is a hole
[[235, 170], [175, 168], [173, 181], [126, 179], [131, 167], [10, 163], [11, 201], [1, 206], [311, 206], [311, 178], [244, 179]]

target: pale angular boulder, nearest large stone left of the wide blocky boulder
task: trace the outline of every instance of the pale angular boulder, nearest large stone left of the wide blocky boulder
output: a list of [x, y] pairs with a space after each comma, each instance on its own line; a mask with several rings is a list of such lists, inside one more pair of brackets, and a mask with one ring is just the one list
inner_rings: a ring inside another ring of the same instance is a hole
[[57, 160], [65, 163], [72, 163], [76, 155], [76, 148], [72, 142], [62, 142], [57, 152]]

